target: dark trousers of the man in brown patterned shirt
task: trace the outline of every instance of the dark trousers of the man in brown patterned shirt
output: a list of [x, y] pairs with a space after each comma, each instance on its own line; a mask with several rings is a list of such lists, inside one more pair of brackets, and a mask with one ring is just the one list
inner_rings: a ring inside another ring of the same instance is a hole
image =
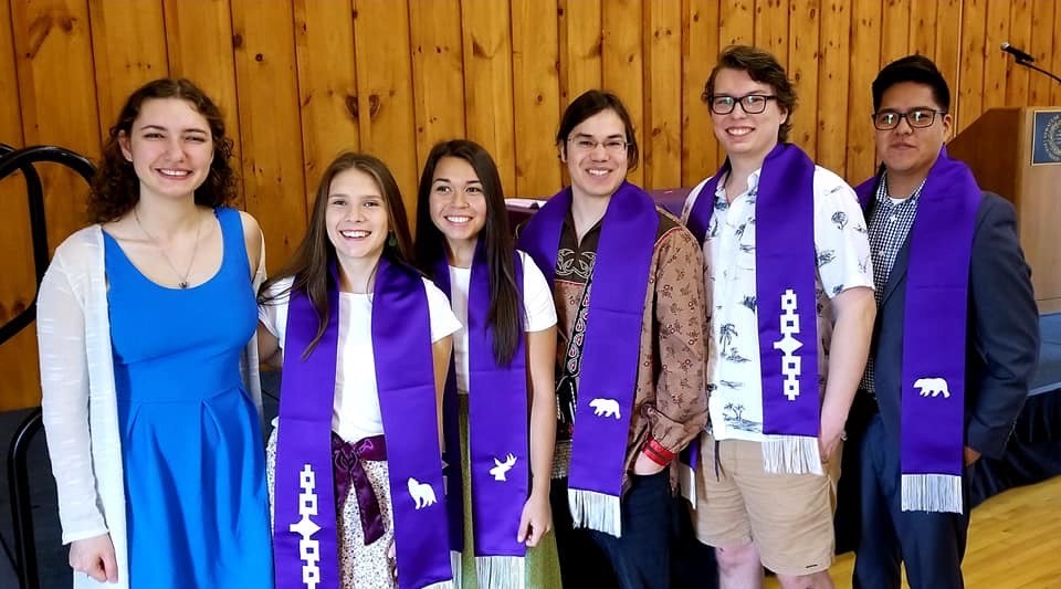
[[668, 470], [634, 475], [622, 497], [622, 536], [572, 529], [567, 478], [553, 481], [549, 501], [564, 587], [668, 589], [674, 502]]

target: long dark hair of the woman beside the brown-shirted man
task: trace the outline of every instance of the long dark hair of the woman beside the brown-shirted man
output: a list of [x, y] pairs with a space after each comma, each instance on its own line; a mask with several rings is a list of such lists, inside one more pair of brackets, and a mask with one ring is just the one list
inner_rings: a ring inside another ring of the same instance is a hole
[[505, 209], [505, 192], [501, 185], [497, 165], [481, 145], [466, 139], [435, 144], [423, 165], [417, 194], [417, 266], [434, 278], [434, 264], [445, 255], [445, 235], [431, 220], [431, 190], [434, 170], [442, 158], [452, 157], [466, 161], [482, 185], [486, 201], [486, 221], [479, 233], [479, 243], [486, 254], [490, 272], [490, 311], [486, 323], [493, 328], [494, 358], [507, 365], [516, 353], [523, 332], [522, 306], [516, 287], [513, 254], [515, 243], [508, 228]]

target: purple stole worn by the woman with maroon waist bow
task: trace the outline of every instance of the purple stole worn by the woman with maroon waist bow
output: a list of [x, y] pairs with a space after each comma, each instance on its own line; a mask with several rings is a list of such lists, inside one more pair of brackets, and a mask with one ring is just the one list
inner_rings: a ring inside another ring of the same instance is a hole
[[[339, 588], [332, 473], [338, 286], [328, 283], [328, 325], [313, 353], [317, 316], [292, 291], [277, 427], [273, 545], [279, 588]], [[419, 274], [381, 257], [372, 299], [372, 354], [386, 439], [400, 587], [450, 587], [445, 509], [427, 292]], [[403, 432], [420, 432], [402, 435]]]

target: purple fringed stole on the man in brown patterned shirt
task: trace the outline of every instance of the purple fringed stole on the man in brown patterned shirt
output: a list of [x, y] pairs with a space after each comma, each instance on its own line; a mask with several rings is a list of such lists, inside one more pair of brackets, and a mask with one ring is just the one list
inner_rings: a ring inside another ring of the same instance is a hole
[[[549, 284], [564, 219], [566, 188], [530, 218], [519, 240]], [[637, 388], [641, 322], [660, 217], [652, 197], [630, 182], [611, 196], [593, 263], [586, 344], [575, 406], [568, 504], [575, 527], [621, 536], [619, 497]]]

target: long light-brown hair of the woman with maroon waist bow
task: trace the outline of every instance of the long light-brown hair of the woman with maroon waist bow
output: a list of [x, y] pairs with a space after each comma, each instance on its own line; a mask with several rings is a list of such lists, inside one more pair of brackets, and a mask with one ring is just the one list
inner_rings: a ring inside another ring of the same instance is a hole
[[[332, 264], [336, 263], [336, 256], [335, 245], [328, 239], [325, 215], [328, 207], [328, 193], [332, 191], [332, 180], [347, 170], [359, 170], [370, 176], [379, 186], [379, 191], [384, 196], [388, 229], [395, 240], [391, 244], [388, 236], [382, 255], [400, 264], [410, 264], [412, 261], [412, 239], [409, 234], [406, 209], [401, 202], [401, 191], [398, 189], [395, 177], [387, 169], [387, 165], [368, 154], [347, 151], [337, 156], [321, 177], [321, 185], [317, 187], [317, 194], [313, 201], [313, 212], [309, 214], [309, 228], [306, 230], [306, 235], [302, 239], [287, 264], [265, 281], [258, 291], [259, 305], [275, 305], [277, 299], [286, 298], [292, 291], [303, 291], [309, 297], [309, 303], [317, 313], [317, 335], [306, 347], [303, 353], [304, 357], [313, 351], [328, 326], [328, 282], [333, 280], [330, 267]], [[290, 288], [276, 293], [269, 292], [277, 282], [290, 277], [294, 277]]]

